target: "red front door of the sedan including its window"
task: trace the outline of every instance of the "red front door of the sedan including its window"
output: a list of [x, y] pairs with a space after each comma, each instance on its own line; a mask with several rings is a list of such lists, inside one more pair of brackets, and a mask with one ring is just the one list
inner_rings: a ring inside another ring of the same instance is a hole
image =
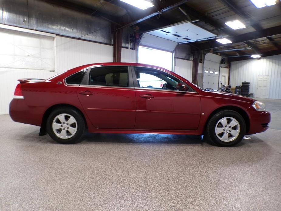
[[182, 81], [164, 71], [147, 67], [134, 69], [135, 129], [197, 130], [201, 110], [198, 93], [190, 87], [187, 92], [178, 91], [176, 85]]

